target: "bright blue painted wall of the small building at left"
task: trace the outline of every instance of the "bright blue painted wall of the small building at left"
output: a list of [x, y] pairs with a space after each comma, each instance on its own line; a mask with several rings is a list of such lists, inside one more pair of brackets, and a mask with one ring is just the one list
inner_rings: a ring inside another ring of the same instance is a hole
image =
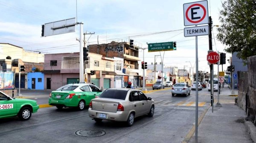
[[[27, 74], [27, 82], [28, 82], [28, 89], [32, 89], [32, 78], [35, 78], [35, 90], [44, 90], [44, 74], [35, 72], [35, 73], [28, 73]], [[38, 82], [38, 78], [41, 78], [42, 81]]]

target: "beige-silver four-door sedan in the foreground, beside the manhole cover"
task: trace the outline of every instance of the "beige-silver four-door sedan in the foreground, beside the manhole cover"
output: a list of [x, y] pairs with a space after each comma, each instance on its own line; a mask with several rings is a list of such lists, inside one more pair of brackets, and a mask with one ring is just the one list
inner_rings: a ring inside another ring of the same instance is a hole
[[89, 116], [96, 122], [102, 120], [126, 121], [132, 126], [134, 118], [148, 114], [154, 115], [154, 100], [136, 89], [109, 88], [99, 98], [92, 99], [88, 109]]

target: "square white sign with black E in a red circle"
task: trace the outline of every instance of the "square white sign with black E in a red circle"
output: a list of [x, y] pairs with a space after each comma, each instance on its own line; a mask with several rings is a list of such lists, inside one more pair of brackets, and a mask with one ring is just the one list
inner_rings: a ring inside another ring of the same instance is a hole
[[209, 23], [207, 0], [194, 3], [184, 3], [183, 12], [185, 26]]

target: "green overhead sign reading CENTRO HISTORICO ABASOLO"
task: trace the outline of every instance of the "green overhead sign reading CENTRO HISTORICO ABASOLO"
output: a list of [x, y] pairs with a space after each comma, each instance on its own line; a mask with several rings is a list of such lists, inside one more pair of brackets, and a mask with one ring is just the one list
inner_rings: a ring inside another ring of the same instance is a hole
[[149, 43], [148, 52], [173, 50], [173, 42]]

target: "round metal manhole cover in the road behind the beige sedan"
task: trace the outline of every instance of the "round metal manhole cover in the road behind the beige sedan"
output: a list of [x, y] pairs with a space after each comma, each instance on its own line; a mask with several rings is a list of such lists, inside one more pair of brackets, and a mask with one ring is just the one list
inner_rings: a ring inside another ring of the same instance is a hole
[[81, 129], [76, 131], [76, 135], [79, 135], [81, 137], [99, 137], [105, 134], [105, 131], [99, 129]]

